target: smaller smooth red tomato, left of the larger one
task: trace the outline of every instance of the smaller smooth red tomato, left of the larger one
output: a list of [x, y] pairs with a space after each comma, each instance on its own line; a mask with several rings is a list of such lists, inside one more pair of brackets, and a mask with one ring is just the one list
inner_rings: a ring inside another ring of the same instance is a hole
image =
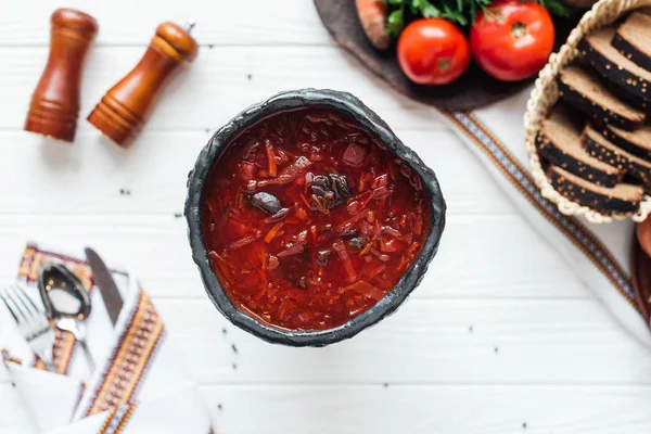
[[470, 49], [463, 34], [442, 18], [417, 20], [398, 39], [400, 68], [419, 85], [447, 85], [470, 63]]

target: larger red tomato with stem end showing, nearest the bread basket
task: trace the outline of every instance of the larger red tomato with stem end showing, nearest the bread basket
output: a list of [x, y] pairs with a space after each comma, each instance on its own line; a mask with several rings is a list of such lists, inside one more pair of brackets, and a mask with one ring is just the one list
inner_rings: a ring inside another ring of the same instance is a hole
[[472, 55], [493, 77], [522, 80], [536, 74], [553, 50], [549, 12], [534, 1], [498, 0], [470, 30]]

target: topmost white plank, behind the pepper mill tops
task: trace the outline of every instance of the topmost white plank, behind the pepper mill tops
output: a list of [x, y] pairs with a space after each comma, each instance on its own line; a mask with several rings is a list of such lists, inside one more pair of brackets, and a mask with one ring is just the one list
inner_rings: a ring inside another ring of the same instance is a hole
[[146, 46], [156, 26], [165, 21], [184, 22], [195, 17], [192, 30], [201, 44], [329, 44], [331, 39], [321, 25], [311, 1], [248, 0], [241, 2], [202, 0], [162, 2], [140, 0], [117, 5], [102, 0], [67, 0], [63, 4], [30, 0], [5, 1], [0, 13], [1, 46], [46, 46], [50, 41], [50, 14], [58, 7], [78, 9], [98, 20], [97, 43]]

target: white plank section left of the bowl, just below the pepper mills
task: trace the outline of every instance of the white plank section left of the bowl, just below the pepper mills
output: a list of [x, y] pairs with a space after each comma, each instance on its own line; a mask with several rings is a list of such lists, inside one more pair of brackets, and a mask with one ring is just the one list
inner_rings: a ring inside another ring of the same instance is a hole
[[[5, 214], [165, 214], [183, 212], [188, 173], [212, 132], [145, 131], [128, 152], [93, 131], [77, 143], [0, 132], [0, 171], [26, 169], [3, 192]], [[16, 176], [18, 176], [16, 174]]]

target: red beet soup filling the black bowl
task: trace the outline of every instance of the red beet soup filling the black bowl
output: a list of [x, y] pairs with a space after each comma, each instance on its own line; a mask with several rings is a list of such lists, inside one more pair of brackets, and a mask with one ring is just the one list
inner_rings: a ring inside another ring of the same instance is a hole
[[302, 108], [229, 144], [201, 212], [210, 265], [240, 310], [323, 330], [400, 280], [427, 238], [430, 208], [419, 176], [359, 124]]

